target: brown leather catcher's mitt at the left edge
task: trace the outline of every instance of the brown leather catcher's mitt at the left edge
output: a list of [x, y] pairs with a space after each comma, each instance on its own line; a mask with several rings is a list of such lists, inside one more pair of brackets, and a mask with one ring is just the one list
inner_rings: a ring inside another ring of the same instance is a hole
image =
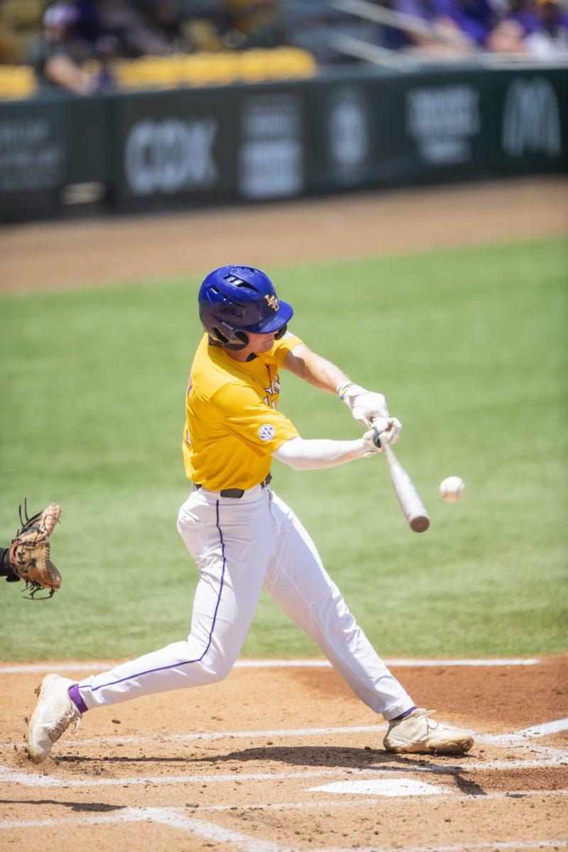
[[61, 575], [49, 558], [49, 536], [59, 521], [61, 507], [51, 503], [47, 509], [27, 516], [27, 501], [24, 504], [24, 517], [20, 506], [21, 528], [10, 546], [10, 567], [14, 574], [26, 582], [27, 597], [33, 598], [40, 589], [48, 589], [52, 597], [60, 588]]

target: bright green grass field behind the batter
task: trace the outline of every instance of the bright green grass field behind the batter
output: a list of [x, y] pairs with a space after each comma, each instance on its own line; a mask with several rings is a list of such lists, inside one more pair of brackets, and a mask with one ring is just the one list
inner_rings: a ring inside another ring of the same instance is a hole
[[[385, 655], [567, 647], [568, 247], [548, 239], [273, 268], [293, 330], [404, 424], [399, 458], [431, 513], [410, 533], [382, 458], [274, 487]], [[87, 277], [88, 270], [84, 271]], [[27, 495], [63, 506], [49, 602], [0, 584], [2, 659], [115, 658], [186, 636], [197, 569], [175, 530], [197, 279], [0, 300], [0, 543]], [[286, 374], [304, 437], [353, 438], [337, 400]], [[461, 475], [462, 504], [438, 485]], [[267, 597], [248, 656], [318, 649]]]

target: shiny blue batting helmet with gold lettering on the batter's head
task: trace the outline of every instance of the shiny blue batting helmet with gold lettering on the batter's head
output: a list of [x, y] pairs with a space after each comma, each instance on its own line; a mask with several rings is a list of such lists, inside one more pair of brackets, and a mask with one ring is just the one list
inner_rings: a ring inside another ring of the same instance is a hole
[[244, 349], [247, 332], [282, 337], [294, 313], [278, 299], [273, 282], [260, 269], [227, 266], [209, 273], [199, 288], [199, 317], [213, 343]]

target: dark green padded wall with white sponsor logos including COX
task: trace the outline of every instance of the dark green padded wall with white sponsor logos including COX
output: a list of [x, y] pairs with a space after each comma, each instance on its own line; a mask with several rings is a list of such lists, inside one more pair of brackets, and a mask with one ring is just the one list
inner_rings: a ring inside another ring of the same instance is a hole
[[540, 66], [2, 103], [0, 217], [566, 172], [566, 103]]

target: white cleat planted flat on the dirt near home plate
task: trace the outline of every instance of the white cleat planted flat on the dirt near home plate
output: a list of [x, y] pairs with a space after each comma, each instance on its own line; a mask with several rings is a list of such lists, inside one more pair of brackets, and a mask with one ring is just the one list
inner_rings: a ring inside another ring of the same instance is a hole
[[465, 754], [473, 746], [467, 731], [434, 722], [433, 710], [413, 710], [399, 722], [390, 722], [382, 745], [398, 754]]

